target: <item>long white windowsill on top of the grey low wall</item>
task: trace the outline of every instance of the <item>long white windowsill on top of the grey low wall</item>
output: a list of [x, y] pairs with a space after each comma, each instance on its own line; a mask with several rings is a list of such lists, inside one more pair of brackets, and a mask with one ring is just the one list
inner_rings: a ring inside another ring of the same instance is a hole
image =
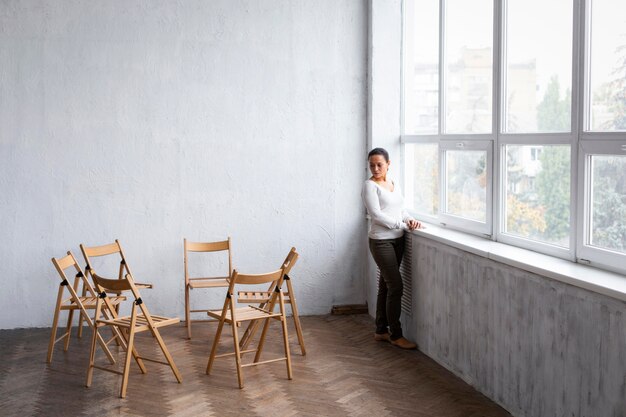
[[624, 275], [432, 224], [426, 224], [426, 229], [415, 230], [411, 233], [556, 281], [626, 301], [626, 276]]

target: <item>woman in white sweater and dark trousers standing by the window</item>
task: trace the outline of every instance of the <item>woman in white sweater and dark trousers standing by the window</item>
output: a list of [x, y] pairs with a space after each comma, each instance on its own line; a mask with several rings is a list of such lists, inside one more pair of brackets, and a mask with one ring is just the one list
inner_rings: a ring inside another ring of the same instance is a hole
[[387, 177], [389, 153], [383, 148], [375, 148], [367, 159], [372, 176], [363, 184], [361, 196], [371, 217], [370, 252], [380, 269], [374, 339], [402, 349], [415, 349], [415, 343], [402, 336], [400, 325], [400, 262], [404, 252], [404, 231], [419, 229], [422, 225], [404, 210], [400, 187]]

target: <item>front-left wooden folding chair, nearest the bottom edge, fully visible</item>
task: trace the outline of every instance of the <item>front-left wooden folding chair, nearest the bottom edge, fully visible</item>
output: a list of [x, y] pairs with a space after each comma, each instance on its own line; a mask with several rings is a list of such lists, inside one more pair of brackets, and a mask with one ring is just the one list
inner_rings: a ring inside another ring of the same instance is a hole
[[[143, 361], [151, 361], [160, 363], [163, 365], [167, 365], [170, 367], [176, 380], [180, 383], [182, 382], [182, 377], [178, 372], [178, 368], [176, 368], [176, 364], [172, 359], [165, 343], [163, 342], [163, 338], [159, 333], [159, 328], [164, 326], [169, 326], [172, 324], [179, 323], [180, 320], [178, 318], [168, 318], [162, 316], [152, 316], [146, 307], [146, 304], [141, 299], [139, 294], [139, 290], [137, 289], [136, 284], [134, 283], [132, 276], [130, 274], [126, 274], [122, 279], [107, 279], [98, 276], [93, 270], [90, 271], [90, 275], [94, 280], [96, 285], [96, 289], [98, 290], [98, 299], [96, 301], [96, 318], [94, 320], [94, 331], [93, 338], [91, 339], [91, 352], [89, 354], [89, 368], [87, 370], [87, 382], [86, 386], [91, 386], [91, 381], [93, 377], [94, 368], [100, 369], [103, 371], [112, 372], [115, 374], [122, 375], [122, 386], [120, 388], [120, 398], [126, 397], [126, 388], [128, 386], [128, 375], [130, 371], [130, 359], [131, 357], [135, 357], [137, 364], [139, 365], [139, 369], [142, 373], [146, 373], [145, 366], [143, 365]], [[114, 318], [100, 318], [100, 313], [102, 312], [102, 308], [106, 300], [109, 299], [107, 292], [123, 292], [130, 291], [134, 301], [131, 308], [130, 316], [119, 317], [116, 316]], [[137, 312], [137, 309], [141, 310], [141, 313]], [[96, 357], [96, 340], [98, 338], [98, 330], [101, 327], [110, 326], [112, 328], [117, 329], [124, 335], [127, 335], [127, 339], [125, 338], [126, 343], [123, 344], [123, 348], [126, 350], [126, 359], [124, 361], [124, 369], [122, 372], [117, 371], [115, 369], [106, 368], [103, 366], [99, 366], [95, 364]], [[154, 339], [156, 339], [163, 355], [165, 356], [166, 361], [156, 360], [153, 358], [146, 358], [143, 356], [139, 356], [137, 350], [135, 348], [135, 335], [140, 332], [150, 331]]]

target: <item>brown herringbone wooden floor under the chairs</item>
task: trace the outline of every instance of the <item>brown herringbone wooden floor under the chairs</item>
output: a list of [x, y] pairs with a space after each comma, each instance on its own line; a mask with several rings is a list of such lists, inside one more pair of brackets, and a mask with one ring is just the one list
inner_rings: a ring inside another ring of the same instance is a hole
[[[114, 374], [95, 370], [92, 387], [84, 386], [90, 331], [74, 338], [68, 352], [57, 344], [48, 366], [49, 329], [1, 330], [0, 415], [509, 416], [422, 353], [374, 341], [368, 316], [303, 317], [303, 328], [307, 356], [290, 334], [293, 380], [284, 362], [245, 368], [243, 390], [232, 357], [217, 359], [213, 374], [204, 373], [214, 324], [194, 326], [191, 341], [182, 324], [162, 329], [183, 383], [168, 367], [146, 362], [142, 375], [133, 364], [126, 399], [118, 398], [121, 377]], [[279, 327], [271, 330], [277, 335]], [[231, 348], [229, 328], [225, 336], [222, 348]], [[143, 355], [157, 352], [149, 335], [138, 339]], [[263, 359], [280, 349], [272, 342]]]

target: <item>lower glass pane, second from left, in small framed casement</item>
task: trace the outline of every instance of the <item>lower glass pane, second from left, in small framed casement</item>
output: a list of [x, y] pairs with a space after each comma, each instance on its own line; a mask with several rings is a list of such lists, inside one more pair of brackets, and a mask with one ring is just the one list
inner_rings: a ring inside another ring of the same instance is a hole
[[446, 151], [446, 212], [487, 221], [487, 152]]

